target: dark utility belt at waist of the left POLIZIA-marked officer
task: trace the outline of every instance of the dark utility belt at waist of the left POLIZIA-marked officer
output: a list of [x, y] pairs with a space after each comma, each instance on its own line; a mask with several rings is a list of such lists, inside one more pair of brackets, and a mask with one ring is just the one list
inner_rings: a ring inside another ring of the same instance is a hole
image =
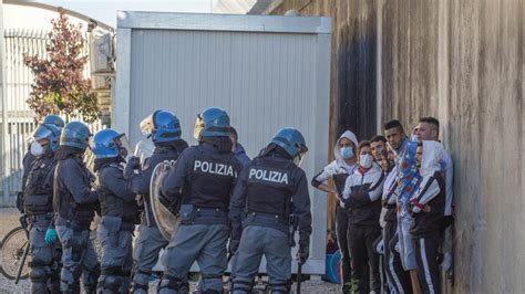
[[228, 224], [228, 211], [220, 208], [181, 206], [181, 224]]

